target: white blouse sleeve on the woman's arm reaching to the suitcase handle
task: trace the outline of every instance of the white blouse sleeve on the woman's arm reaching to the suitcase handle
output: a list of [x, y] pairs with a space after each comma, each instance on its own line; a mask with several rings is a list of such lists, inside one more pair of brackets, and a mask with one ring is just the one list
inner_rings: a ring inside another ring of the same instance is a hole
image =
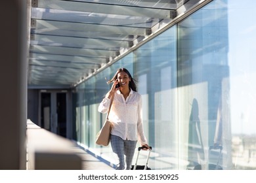
[[147, 144], [146, 137], [144, 135], [144, 129], [142, 124], [142, 97], [140, 96], [139, 105], [138, 105], [138, 123], [137, 123], [137, 130], [138, 130], [138, 139], [140, 141], [140, 145], [143, 146]]

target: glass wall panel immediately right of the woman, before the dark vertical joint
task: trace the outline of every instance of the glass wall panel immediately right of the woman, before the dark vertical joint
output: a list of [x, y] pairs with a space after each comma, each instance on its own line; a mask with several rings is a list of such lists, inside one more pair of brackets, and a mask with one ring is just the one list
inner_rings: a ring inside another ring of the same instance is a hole
[[[144, 132], [153, 146], [154, 169], [177, 167], [176, 26], [135, 50], [135, 73], [142, 95]], [[145, 161], [140, 159], [141, 163]]]

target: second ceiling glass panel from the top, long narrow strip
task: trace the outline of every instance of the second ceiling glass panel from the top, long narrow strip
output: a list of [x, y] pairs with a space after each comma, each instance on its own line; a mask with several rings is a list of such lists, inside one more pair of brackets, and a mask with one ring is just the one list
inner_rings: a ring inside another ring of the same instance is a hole
[[[61, 1], [60, 1], [61, 2]], [[47, 2], [48, 3], [48, 2]], [[76, 3], [72, 3], [74, 7]], [[83, 7], [86, 7], [87, 4], [81, 4]], [[95, 7], [97, 5], [95, 4]], [[114, 6], [108, 7], [108, 9], [113, 8]], [[67, 7], [65, 7], [67, 8]], [[92, 8], [94, 11], [98, 10], [97, 8]], [[142, 8], [140, 8], [142, 9]], [[96, 12], [81, 12], [75, 10], [58, 10], [58, 9], [47, 9], [47, 8], [32, 8], [32, 18], [33, 19], [45, 19], [45, 20], [54, 20], [60, 22], [78, 22], [86, 24], [102, 24], [102, 25], [119, 25], [119, 26], [132, 26], [132, 27], [152, 27], [159, 22], [159, 19], [152, 18], [152, 21], [148, 21], [148, 17], [136, 16], [137, 12], [133, 16], [125, 15], [114, 15], [111, 14], [100, 14]], [[83, 8], [85, 10], [85, 8]], [[157, 9], [156, 9], [157, 10]], [[160, 10], [159, 10], [160, 11]], [[154, 17], [154, 16], [152, 16]]]

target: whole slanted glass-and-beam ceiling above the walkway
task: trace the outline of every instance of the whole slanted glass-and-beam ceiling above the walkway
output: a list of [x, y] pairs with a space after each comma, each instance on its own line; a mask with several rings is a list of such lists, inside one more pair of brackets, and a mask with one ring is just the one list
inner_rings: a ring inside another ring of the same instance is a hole
[[171, 22], [184, 3], [32, 0], [28, 88], [74, 87]]

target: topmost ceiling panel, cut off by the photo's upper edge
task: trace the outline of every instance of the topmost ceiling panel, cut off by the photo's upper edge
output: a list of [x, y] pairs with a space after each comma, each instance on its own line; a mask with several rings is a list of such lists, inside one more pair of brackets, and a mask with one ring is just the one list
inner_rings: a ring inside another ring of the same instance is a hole
[[[126, 1], [124, 3], [115, 3], [116, 1], [58, 1], [58, 0], [39, 0], [35, 7], [47, 8], [54, 10], [71, 10], [80, 12], [92, 12], [94, 14], [114, 14], [116, 16], [141, 16], [141, 17], [154, 17], [154, 18], [171, 18], [172, 12], [175, 8], [171, 9], [169, 3], [161, 3], [156, 1], [152, 3], [152, 7], [135, 5], [136, 1]], [[166, 1], [165, 1], [166, 2]], [[156, 4], [159, 6], [154, 7]], [[147, 1], [144, 2], [147, 4]], [[167, 8], [165, 8], [165, 5]], [[176, 7], [176, 5], [175, 5]]]

